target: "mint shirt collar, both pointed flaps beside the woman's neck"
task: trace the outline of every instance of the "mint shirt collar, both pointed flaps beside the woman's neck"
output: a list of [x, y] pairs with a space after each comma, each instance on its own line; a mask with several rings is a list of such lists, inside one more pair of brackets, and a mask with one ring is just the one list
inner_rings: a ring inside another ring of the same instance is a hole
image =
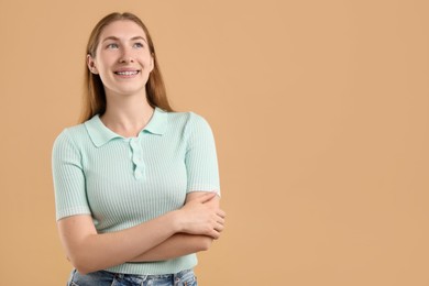
[[[92, 143], [100, 147], [108, 143], [110, 140], [123, 136], [114, 133], [110, 129], [108, 129], [100, 120], [99, 114], [94, 116], [90, 120], [86, 121], [85, 127], [88, 131], [88, 134], [92, 141]], [[155, 108], [154, 113], [148, 121], [147, 125], [141, 132], [150, 132], [156, 135], [163, 135], [167, 128], [167, 112]]]

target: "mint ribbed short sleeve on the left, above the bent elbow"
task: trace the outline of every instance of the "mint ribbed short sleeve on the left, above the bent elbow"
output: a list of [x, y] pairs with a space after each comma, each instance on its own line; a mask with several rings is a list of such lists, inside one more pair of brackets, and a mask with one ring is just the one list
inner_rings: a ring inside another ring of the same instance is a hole
[[81, 153], [67, 130], [64, 130], [55, 140], [52, 152], [56, 220], [74, 215], [91, 213], [81, 162]]

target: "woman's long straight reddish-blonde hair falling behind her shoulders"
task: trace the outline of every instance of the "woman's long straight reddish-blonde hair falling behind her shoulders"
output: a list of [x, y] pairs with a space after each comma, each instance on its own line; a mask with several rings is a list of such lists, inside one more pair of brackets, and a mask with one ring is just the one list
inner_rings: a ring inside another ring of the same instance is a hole
[[[147, 28], [144, 25], [139, 16], [125, 12], [125, 13], [111, 13], [101, 19], [94, 28], [87, 45], [86, 54], [91, 57], [96, 57], [97, 46], [100, 41], [100, 34], [102, 30], [112, 22], [120, 20], [133, 21], [140, 25], [147, 37], [147, 44], [150, 52], [154, 59], [154, 68], [151, 72], [146, 82], [146, 97], [147, 102], [153, 107], [158, 107], [165, 111], [173, 111], [168, 103], [167, 92], [165, 89], [163, 76], [160, 70], [158, 61], [156, 59], [155, 47], [152, 42], [151, 34]], [[91, 119], [95, 114], [102, 114], [106, 111], [107, 100], [102, 81], [99, 75], [95, 75], [89, 72], [87, 64], [85, 63], [85, 81], [84, 81], [84, 108], [80, 116], [80, 122], [85, 122]]]

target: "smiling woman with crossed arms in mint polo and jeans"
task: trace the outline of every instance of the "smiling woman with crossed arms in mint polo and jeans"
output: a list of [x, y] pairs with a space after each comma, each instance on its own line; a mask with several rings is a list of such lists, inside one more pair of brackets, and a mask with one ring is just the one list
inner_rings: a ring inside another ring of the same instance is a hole
[[173, 112], [138, 16], [100, 20], [86, 59], [82, 123], [53, 148], [68, 285], [197, 285], [195, 253], [224, 223], [211, 130]]

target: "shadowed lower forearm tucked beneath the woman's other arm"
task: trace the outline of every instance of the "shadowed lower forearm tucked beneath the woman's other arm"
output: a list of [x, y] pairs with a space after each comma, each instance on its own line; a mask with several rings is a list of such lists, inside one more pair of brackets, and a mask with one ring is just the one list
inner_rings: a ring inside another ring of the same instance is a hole
[[206, 251], [209, 249], [211, 242], [212, 238], [210, 237], [177, 233], [155, 248], [134, 257], [130, 262], [151, 262], [176, 258], [187, 254]]

